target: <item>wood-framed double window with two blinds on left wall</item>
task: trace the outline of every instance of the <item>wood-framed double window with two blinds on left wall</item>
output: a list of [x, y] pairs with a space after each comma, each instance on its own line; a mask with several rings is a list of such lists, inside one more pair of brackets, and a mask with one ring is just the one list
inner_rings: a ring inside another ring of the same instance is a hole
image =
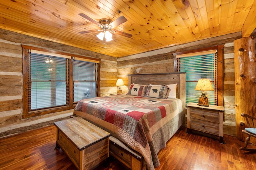
[[98, 97], [100, 60], [23, 47], [23, 117], [73, 109]]

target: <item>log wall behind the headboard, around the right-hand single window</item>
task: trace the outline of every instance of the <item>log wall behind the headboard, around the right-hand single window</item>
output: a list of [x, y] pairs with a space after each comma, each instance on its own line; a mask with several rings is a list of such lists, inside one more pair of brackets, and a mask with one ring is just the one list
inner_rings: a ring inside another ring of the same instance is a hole
[[[127, 85], [127, 74], [168, 73], [173, 72], [174, 52], [212, 47], [224, 44], [223, 65], [223, 98], [224, 98], [224, 134], [235, 136], [235, 93], [234, 93], [234, 40], [241, 38], [241, 33], [229, 34], [217, 38], [200, 40], [198, 42], [176, 45], [137, 55], [119, 57], [117, 59], [117, 74]], [[126, 87], [126, 90], [128, 87]]]

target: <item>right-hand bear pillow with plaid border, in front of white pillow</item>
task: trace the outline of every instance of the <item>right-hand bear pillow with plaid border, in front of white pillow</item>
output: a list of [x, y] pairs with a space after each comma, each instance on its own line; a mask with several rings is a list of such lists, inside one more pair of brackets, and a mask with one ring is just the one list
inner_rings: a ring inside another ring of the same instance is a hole
[[148, 85], [144, 97], [154, 97], [158, 99], [167, 99], [169, 88], [166, 85]]

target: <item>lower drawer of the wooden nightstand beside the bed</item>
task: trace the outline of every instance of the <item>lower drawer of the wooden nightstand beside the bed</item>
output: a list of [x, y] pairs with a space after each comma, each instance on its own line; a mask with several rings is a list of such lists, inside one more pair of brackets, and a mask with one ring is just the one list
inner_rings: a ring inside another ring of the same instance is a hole
[[206, 122], [199, 119], [191, 118], [190, 128], [211, 134], [219, 134], [219, 124]]

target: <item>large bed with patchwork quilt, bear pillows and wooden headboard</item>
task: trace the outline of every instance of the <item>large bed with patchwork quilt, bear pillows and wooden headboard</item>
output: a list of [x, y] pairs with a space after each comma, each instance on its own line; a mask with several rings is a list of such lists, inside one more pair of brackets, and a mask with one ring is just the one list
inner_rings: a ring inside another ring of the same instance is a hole
[[[185, 73], [128, 75], [129, 95], [82, 99], [76, 105], [73, 115], [103, 128], [139, 152], [143, 156], [139, 169], [154, 170], [154, 167], [160, 165], [158, 152], [184, 125], [185, 77]], [[177, 84], [176, 97], [162, 99], [165, 95], [160, 94], [174, 84]], [[144, 86], [146, 97], [142, 95]], [[156, 96], [157, 89], [159, 95]]]

